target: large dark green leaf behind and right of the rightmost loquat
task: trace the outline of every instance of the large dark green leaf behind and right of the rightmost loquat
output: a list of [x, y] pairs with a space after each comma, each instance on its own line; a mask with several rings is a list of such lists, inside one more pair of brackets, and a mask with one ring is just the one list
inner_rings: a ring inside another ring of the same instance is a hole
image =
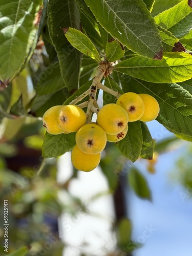
[[170, 132], [191, 141], [192, 95], [188, 91], [176, 83], [155, 84], [135, 78], [124, 84], [123, 91], [146, 93], [155, 97], [160, 106], [160, 114], [156, 120]]

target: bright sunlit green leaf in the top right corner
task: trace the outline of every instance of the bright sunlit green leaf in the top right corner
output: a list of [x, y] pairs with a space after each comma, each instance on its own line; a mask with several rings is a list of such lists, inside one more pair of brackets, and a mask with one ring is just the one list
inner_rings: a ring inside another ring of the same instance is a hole
[[186, 0], [177, 4], [173, 8], [165, 10], [155, 17], [155, 22], [165, 29], [168, 29], [176, 37], [181, 37], [189, 33], [192, 28], [192, 9]]

